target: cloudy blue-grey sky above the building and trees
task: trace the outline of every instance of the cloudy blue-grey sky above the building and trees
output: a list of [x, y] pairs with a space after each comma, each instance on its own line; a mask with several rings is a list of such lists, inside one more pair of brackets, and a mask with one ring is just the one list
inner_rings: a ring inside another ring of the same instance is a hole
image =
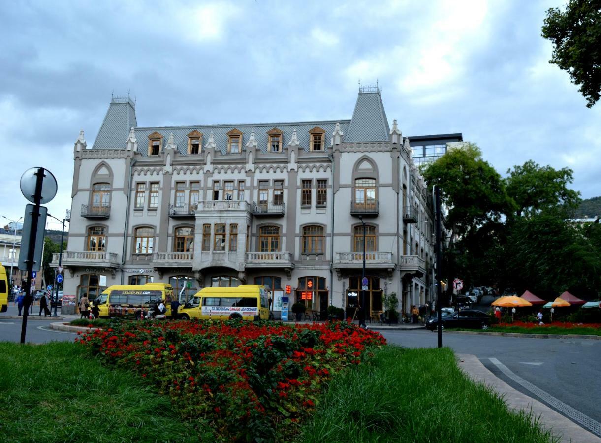
[[[548, 1], [14, 1], [0, 9], [0, 215], [23, 215], [23, 171], [71, 206], [73, 143], [111, 100], [140, 126], [350, 118], [379, 81], [403, 135], [462, 132], [505, 174], [533, 159], [601, 195], [601, 104], [548, 63]], [[58, 222], [50, 228], [59, 228]]]

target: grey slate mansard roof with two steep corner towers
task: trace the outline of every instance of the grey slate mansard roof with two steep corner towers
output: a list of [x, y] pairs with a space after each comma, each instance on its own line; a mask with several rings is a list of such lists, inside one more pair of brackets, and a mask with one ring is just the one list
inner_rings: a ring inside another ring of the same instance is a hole
[[284, 123], [245, 123], [245, 124], [198, 124], [190, 126], [156, 126], [138, 127], [135, 114], [135, 103], [127, 98], [113, 98], [106, 112], [105, 120], [94, 141], [94, 149], [121, 149], [126, 147], [130, 128], [135, 128], [136, 139], [140, 153], [146, 155], [144, 141], [153, 132], [163, 136], [163, 146], [169, 134], [173, 133], [177, 149], [182, 154], [188, 152], [188, 134], [194, 130], [203, 133], [203, 145], [207, 144], [210, 133], [213, 132], [216, 147], [222, 153], [227, 152], [227, 133], [237, 129], [243, 133], [242, 148], [246, 149], [251, 132], [255, 133], [257, 148], [267, 151], [267, 132], [274, 127], [283, 132], [282, 147], [285, 149], [296, 129], [299, 144], [305, 151], [309, 150], [309, 131], [318, 126], [326, 131], [325, 145], [330, 145], [330, 139], [336, 123], [340, 123], [344, 142], [379, 142], [389, 140], [389, 126], [382, 104], [382, 96], [377, 88], [360, 88], [355, 104], [353, 117], [348, 120], [316, 120]]

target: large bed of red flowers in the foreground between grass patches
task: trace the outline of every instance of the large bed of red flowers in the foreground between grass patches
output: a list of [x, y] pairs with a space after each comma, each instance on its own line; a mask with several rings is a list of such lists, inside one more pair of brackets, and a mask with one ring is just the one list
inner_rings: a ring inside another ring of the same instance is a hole
[[76, 339], [147, 377], [184, 419], [227, 440], [288, 439], [333, 373], [382, 335], [350, 323], [121, 322]]

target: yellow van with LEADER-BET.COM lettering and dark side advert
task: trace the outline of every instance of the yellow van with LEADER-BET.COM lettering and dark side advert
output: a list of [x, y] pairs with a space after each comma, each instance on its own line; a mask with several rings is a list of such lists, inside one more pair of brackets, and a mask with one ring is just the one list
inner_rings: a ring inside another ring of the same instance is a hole
[[171, 315], [173, 287], [168, 283], [144, 285], [115, 284], [109, 286], [94, 301], [99, 317], [122, 317], [141, 320], [148, 309], [159, 301], [165, 301], [165, 315]]

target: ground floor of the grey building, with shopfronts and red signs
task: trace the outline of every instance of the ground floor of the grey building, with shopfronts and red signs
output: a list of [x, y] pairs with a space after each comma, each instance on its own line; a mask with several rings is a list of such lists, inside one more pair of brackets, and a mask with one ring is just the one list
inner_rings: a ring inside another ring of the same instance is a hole
[[[367, 319], [377, 320], [385, 311], [386, 296], [398, 300], [397, 311], [409, 313], [412, 305], [427, 302], [426, 284], [416, 278], [401, 278], [399, 270], [379, 272], [367, 270], [367, 289], [361, 284], [361, 269], [331, 273], [327, 267], [296, 267], [290, 273], [279, 269], [253, 269], [239, 272], [227, 267], [207, 268], [202, 272], [192, 267], [177, 269], [124, 268], [123, 272], [102, 267], [70, 268], [65, 275], [63, 313], [76, 311], [79, 299], [93, 300], [102, 291], [115, 284], [169, 283], [174, 294], [184, 303], [203, 287], [236, 287], [240, 284], [262, 284], [272, 291], [270, 310], [276, 319], [281, 317], [282, 297], [288, 297], [291, 307], [302, 303], [308, 312], [326, 317], [329, 305], [345, 310], [346, 316], [358, 317], [358, 308], [364, 296]], [[289, 293], [287, 293], [289, 290]], [[363, 294], [364, 293], [364, 294]], [[292, 316], [289, 316], [290, 318]]]

